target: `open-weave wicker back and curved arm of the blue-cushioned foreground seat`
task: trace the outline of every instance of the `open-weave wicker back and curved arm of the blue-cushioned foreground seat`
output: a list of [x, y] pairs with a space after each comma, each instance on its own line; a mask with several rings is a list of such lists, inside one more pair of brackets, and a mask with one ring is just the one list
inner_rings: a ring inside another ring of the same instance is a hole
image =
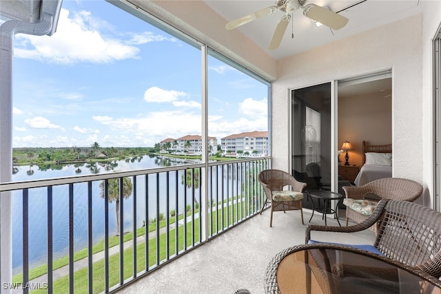
[[373, 250], [365, 250], [380, 251], [387, 258], [441, 277], [441, 213], [413, 202], [380, 200], [367, 220], [349, 227], [309, 224], [305, 241], [310, 242], [311, 231], [353, 233], [369, 229], [379, 220]]

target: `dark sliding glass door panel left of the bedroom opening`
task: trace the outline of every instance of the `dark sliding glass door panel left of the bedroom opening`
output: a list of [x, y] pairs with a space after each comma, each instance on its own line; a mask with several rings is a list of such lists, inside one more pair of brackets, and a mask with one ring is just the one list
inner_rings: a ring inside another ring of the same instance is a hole
[[[331, 190], [331, 83], [291, 92], [291, 172], [307, 190]], [[303, 207], [312, 208], [305, 198]]]

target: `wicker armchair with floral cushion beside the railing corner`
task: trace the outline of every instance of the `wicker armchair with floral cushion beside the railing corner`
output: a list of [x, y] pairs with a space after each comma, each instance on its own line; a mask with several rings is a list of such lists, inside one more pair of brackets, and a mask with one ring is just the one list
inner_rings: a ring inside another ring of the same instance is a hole
[[[267, 202], [271, 203], [271, 217], [269, 218], [269, 227], [272, 227], [273, 211], [300, 210], [303, 222], [302, 199], [303, 189], [306, 183], [298, 182], [293, 176], [286, 171], [278, 169], [265, 169], [260, 171], [258, 176], [260, 185], [265, 191], [265, 203], [260, 210], [262, 214]], [[283, 187], [291, 186], [291, 190], [284, 190]]]

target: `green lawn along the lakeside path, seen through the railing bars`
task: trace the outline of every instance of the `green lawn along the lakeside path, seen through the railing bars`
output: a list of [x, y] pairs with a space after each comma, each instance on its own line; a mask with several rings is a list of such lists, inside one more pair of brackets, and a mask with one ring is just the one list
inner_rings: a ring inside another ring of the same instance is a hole
[[[219, 203], [220, 204], [220, 203]], [[218, 209], [217, 213], [217, 222], [216, 222], [216, 213], [212, 213], [212, 232], [215, 234], [218, 231], [222, 231], [226, 227], [230, 227], [234, 222], [237, 222], [238, 219], [243, 218], [245, 214], [247, 215], [247, 209], [249, 202], [247, 202], [247, 205], [243, 207], [243, 213], [242, 212], [242, 203], [236, 203], [230, 204], [227, 207], [224, 207], [223, 213], [221, 209]], [[227, 213], [228, 211], [228, 213]], [[238, 215], [236, 214], [236, 211], [238, 212]], [[196, 211], [195, 211], [196, 213]], [[194, 229], [192, 229], [192, 213], [187, 213], [187, 226], [186, 226], [186, 232], [184, 232], [184, 227], [180, 226], [178, 227], [178, 252], [182, 251], [184, 249], [184, 233], [187, 235], [187, 247], [193, 246], [194, 244], [198, 244], [199, 242], [199, 220], [195, 220], [194, 223]], [[241, 217], [242, 216], [242, 217]], [[183, 216], [179, 216], [179, 219], [181, 220]], [[170, 224], [174, 223], [175, 218], [170, 218]], [[165, 227], [165, 220], [162, 220], [160, 222], [160, 227]], [[216, 229], [217, 224], [217, 229]], [[156, 224], [149, 224], [149, 231], [155, 231], [156, 230]], [[194, 231], [194, 234], [192, 233]], [[145, 234], [145, 228], [140, 228], [136, 231], [136, 235], [144, 235]], [[194, 239], [192, 240], [192, 235], [194, 235]], [[175, 229], [170, 229], [168, 240], [168, 248], [169, 248], [169, 256], [176, 255], [176, 231]], [[127, 233], [124, 236], [124, 242], [130, 241], [133, 239], [132, 233]], [[166, 234], [163, 233], [159, 236], [159, 257], [156, 257], [156, 238], [152, 238], [148, 241], [148, 266], [154, 266], [156, 264], [161, 264], [164, 260], [166, 260], [166, 249], [167, 249], [167, 240], [166, 240]], [[112, 237], [109, 238], [109, 244], [110, 246], [116, 246], [119, 244], [119, 237]], [[104, 249], [104, 242], [99, 242], [98, 244], [94, 245], [93, 251], [94, 253], [103, 251]], [[82, 258], [86, 258], [88, 256], [88, 250], [84, 249], [81, 250], [74, 255], [74, 260], [80, 260]], [[109, 257], [109, 284], [110, 287], [114, 285], [119, 284], [119, 264], [120, 260], [120, 254], [114, 254]], [[141, 242], [139, 244], [136, 244], [136, 273], [140, 273], [142, 271], [145, 271], [145, 242]], [[127, 278], [132, 277], [133, 275], [133, 248], [130, 247], [129, 249], [125, 249], [123, 251], [123, 269], [124, 269], [124, 280]], [[68, 257], [61, 258], [59, 260], [54, 261], [54, 269], [56, 269], [55, 264], [57, 264], [57, 268], [67, 265], [68, 264]], [[148, 269], [147, 269], [148, 270]], [[38, 277], [39, 275], [47, 273], [47, 266], [39, 266], [39, 268], [32, 269], [30, 271], [30, 280], [32, 280], [34, 277]], [[104, 278], [105, 278], [105, 264], [104, 260], [99, 260], [98, 262], [94, 262], [92, 267], [92, 275], [93, 275], [93, 293], [101, 293], [104, 289]], [[22, 278], [22, 275], [14, 276], [14, 282], [20, 282]], [[69, 277], [61, 277], [58, 280], [54, 281], [53, 284], [54, 293], [68, 293], [69, 292]], [[79, 271], [76, 271], [74, 273], [74, 292], [75, 293], [88, 293], [89, 289], [89, 282], [88, 282], [88, 268], [81, 269]], [[46, 290], [40, 289], [36, 291], [32, 291], [32, 293], [46, 293]]]

